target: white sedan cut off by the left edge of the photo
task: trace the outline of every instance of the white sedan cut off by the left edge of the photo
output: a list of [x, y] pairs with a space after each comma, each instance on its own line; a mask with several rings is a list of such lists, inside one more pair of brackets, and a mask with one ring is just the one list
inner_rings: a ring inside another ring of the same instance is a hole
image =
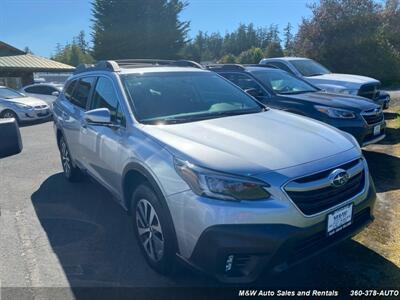
[[14, 118], [23, 122], [46, 119], [50, 116], [50, 107], [46, 102], [0, 86], [0, 118]]

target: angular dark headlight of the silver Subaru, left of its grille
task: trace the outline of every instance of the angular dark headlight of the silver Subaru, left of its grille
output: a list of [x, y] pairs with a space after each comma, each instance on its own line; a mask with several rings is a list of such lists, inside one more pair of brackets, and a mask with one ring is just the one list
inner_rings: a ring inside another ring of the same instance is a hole
[[271, 195], [269, 185], [253, 178], [229, 175], [195, 166], [187, 161], [174, 159], [177, 173], [199, 196], [221, 200], [265, 200]]

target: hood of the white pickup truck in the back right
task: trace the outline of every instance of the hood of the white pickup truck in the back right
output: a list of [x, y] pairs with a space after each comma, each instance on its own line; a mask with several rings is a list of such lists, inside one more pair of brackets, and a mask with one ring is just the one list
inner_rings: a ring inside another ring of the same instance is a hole
[[339, 73], [328, 73], [319, 76], [305, 77], [308, 81], [315, 85], [319, 84], [331, 84], [342, 86], [346, 89], [359, 89], [361, 85], [366, 83], [376, 83], [379, 81], [370, 77], [350, 75], [350, 74], [339, 74]]

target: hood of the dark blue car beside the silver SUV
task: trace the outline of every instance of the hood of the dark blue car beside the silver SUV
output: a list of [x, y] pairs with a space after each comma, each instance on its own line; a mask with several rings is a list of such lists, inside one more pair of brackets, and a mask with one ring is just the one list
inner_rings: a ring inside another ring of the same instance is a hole
[[304, 93], [298, 95], [283, 95], [283, 97], [291, 98], [295, 100], [302, 100], [312, 102], [316, 105], [325, 105], [335, 108], [344, 108], [354, 112], [361, 112], [364, 110], [379, 108], [380, 106], [375, 104], [372, 100], [368, 100], [363, 97], [337, 94], [337, 93]]

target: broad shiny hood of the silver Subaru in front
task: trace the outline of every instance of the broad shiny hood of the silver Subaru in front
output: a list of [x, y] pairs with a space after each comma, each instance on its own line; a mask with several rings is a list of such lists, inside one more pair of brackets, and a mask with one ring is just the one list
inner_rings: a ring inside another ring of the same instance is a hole
[[274, 109], [184, 124], [143, 125], [142, 130], [174, 156], [242, 175], [293, 167], [355, 147], [334, 127]]

